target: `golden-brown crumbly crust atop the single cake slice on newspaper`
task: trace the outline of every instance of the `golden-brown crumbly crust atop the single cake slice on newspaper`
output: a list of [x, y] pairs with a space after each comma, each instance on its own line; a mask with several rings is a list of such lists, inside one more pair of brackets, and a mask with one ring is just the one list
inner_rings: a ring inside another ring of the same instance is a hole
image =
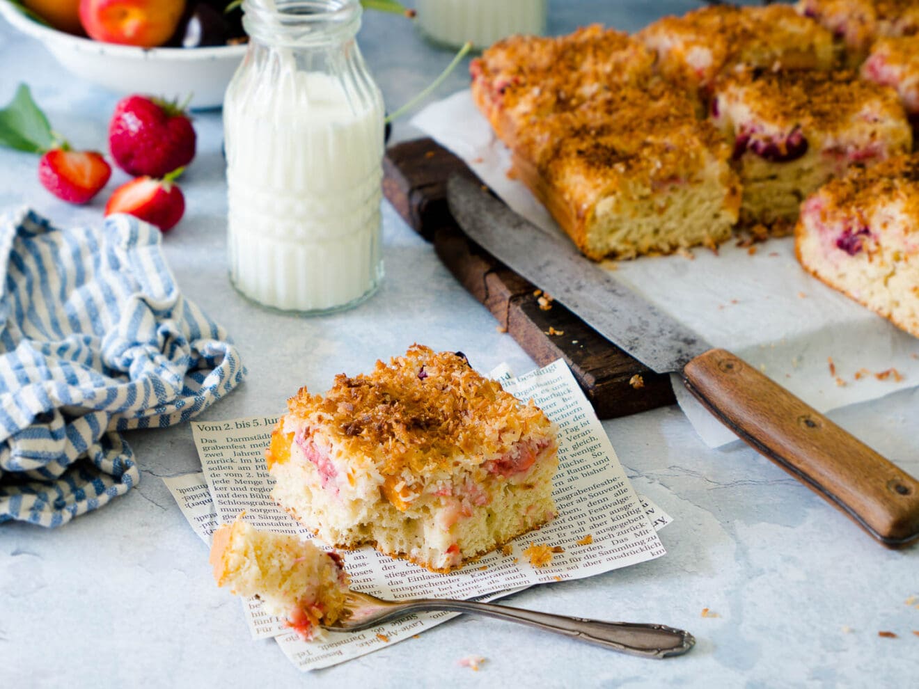
[[551, 423], [477, 373], [465, 356], [413, 344], [373, 373], [335, 377], [324, 396], [302, 388], [290, 413], [350, 457], [368, 457], [384, 476], [450, 471], [458, 462], [503, 455]]

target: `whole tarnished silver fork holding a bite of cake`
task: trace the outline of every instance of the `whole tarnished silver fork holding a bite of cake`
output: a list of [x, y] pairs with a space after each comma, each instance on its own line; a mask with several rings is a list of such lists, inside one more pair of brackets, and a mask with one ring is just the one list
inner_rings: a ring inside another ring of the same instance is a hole
[[348, 592], [345, 611], [341, 618], [334, 625], [323, 625], [323, 628], [330, 631], [360, 631], [425, 610], [471, 613], [519, 622], [522, 625], [539, 627], [565, 637], [596, 644], [605, 649], [618, 650], [643, 658], [667, 658], [682, 655], [696, 643], [696, 639], [689, 632], [664, 625], [601, 622], [584, 619], [584, 617], [550, 615], [506, 605], [457, 601], [448, 598], [384, 601], [369, 593], [358, 593], [357, 591]]

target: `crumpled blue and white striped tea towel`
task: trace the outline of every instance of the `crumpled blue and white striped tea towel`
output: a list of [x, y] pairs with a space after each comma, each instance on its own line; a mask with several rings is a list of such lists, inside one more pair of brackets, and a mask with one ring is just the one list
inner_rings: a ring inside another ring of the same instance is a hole
[[159, 230], [0, 218], [0, 523], [58, 526], [140, 479], [119, 431], [179, 424], [245, 376], [178, 291]]

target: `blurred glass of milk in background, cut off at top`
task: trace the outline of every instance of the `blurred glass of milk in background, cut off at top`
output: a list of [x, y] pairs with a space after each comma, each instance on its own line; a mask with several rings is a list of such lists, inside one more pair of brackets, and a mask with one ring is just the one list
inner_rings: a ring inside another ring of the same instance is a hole
[[514, 34], [546, 32], [547, 0], [416, 0], [418, 28], [437, 43], [478, 49]]

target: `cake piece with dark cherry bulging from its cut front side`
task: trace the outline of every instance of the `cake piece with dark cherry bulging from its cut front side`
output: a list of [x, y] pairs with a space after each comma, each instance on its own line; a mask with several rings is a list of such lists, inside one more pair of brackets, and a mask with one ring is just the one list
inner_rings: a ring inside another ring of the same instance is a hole
[[909, 152], [913, 141], [896, 93], [852, 73], [733, 73], [716, 86], [711, 119], [732, 141], [742, 222], [779, 234], [825, 182]]

